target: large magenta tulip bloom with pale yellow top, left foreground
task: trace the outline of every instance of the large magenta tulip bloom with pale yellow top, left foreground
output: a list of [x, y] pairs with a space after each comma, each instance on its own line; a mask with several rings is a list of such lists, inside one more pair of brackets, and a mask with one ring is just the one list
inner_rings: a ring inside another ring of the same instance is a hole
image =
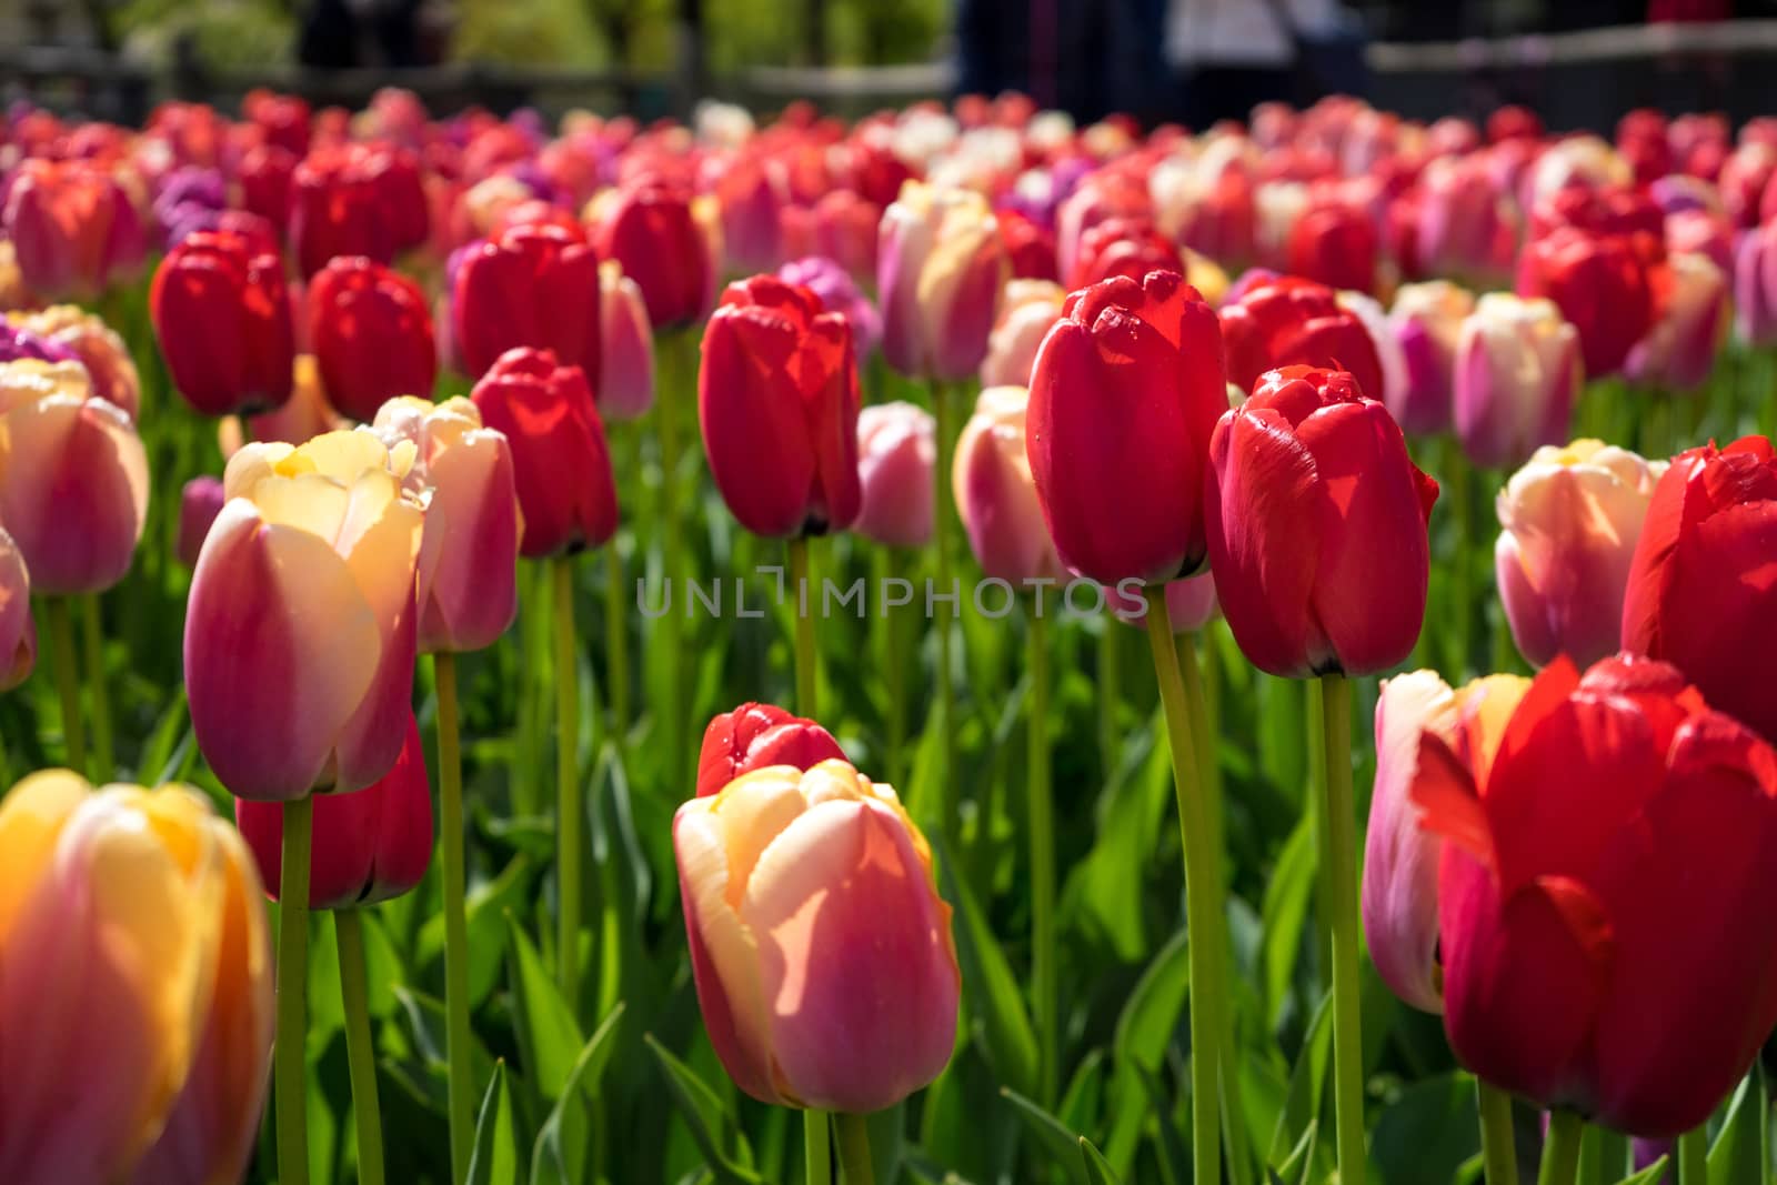
[[[185, 611], [197, 746], [236, 798], [355, 791], [402, 752], [425, 510], [370, 432], [247, 444]], [[393, 465], [393, 467], [391, 467]]]

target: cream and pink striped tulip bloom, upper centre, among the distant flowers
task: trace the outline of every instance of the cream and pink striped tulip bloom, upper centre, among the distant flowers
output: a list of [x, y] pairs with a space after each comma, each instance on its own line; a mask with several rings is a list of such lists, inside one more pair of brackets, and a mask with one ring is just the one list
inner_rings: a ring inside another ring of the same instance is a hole
[[883, 211], [876, 256], [888, 364], [917, 378], [974, 375], [1009, 275], [999, 222], [979, 194], [904, 185]]

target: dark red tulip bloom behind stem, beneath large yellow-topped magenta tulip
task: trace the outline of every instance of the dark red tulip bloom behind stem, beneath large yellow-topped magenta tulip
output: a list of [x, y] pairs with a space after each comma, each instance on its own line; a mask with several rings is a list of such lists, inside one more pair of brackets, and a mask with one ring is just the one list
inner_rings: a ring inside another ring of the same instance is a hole
[[[277, 901], [284, 858], [284, 808], [235, 799], [265, 895]], [[400, 897], [432, 862], [432, 791], [419, 721], [409, 714], [400, 757], [380, 780], [350, 794], [318, 794], [309, 839], [309, 908], [354, 910]]]

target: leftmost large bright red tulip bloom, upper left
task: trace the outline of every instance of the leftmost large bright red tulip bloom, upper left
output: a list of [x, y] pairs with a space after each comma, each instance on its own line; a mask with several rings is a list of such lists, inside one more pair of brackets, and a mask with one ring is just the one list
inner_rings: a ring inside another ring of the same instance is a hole
[[147, 293], [172, 386], [206, 416], [290, 398], [295, 339], [284, 265], [227, 231], [199, 231], [167, 252]]

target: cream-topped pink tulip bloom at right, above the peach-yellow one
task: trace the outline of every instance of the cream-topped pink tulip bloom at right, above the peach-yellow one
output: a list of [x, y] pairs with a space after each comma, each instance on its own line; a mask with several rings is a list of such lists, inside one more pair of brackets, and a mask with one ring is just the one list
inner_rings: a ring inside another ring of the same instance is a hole
[[1516, 465], [1567, 439], [1580, 396], [1580, 334], [1550, 300], [1489, 291], [1462, 322], [1455, 432], [1477, 465]]

